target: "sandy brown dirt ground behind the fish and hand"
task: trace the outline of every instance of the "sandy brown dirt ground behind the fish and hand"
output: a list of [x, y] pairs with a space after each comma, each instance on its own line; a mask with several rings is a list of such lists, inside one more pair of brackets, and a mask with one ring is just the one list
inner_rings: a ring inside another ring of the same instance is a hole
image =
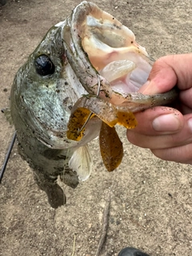
[[[0, 6], [0, 109], [10, 104], [18, 68], [46, 31], [79, 2], [7, 0]], [[133, 30], [137, 42], [154, 58], [190, 52], [190, 0], [94, 2]], [[3, 114], [0, 120], [2, 163], [14, 128]], [[91, 142], [94, 170], [75, 190], [61, 184], [67, 202], [57, 210], [50, 207], [14, 146], [0, 185], [0, 255], [96, 255], [109, 200], [109, 226], [100, 255], [117, 255], [124, 246], [151, 256], [191, 255], [191, 166], [162, 161], [150, 150], [127, 142], [126, 130], [119, 133], [124, 146], [121, 166], [108, 173], [98, 154], [98, 141]]]

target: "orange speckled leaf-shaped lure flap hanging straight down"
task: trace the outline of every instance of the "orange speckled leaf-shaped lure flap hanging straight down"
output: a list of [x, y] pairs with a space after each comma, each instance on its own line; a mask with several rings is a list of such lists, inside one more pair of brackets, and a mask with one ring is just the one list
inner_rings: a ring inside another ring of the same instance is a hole
[[118, 137], [115, 128], [108, 126], [105, 122], [102, 122], [102, 128], [99, 135], [99, 144], [102, 154], [102, 161], [106, 166], [106, 170], [112, 171], [116, 169], [122, 162], [122, 142]]

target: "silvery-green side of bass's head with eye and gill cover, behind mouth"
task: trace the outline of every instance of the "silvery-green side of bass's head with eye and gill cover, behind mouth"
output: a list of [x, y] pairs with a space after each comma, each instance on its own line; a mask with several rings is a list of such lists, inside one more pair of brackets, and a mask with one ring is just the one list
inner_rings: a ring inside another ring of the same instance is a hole
[[[50, 148], [79, 146], [66, 138], [67, 122], [74, 102], [87, 94], [66, 58], [62, 29], [66, 21], [52, 27], [18, 70], [11, 90], [11, 113], [20, 134], [38, 138]], [[93, 118], [98, 136], [101, 121]], [[80, 142], [80, 146], [86, 143]]]

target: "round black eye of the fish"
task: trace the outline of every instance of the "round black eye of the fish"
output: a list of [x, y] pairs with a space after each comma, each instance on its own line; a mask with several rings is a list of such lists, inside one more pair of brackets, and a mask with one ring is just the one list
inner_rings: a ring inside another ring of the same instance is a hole
[[34, 66], [37, 73], [42, 76], [54, 74], [54, 63], [51, 62], [50, 58], [44, 54], [35, 59]]

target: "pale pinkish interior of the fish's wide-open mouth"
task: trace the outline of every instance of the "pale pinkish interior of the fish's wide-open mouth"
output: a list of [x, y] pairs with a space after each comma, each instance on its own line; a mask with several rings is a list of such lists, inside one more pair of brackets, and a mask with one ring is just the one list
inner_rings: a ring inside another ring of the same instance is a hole
[[70, 26], [73, 39], [78, 40], [94, 69], [110, 82], [112, 90], [118, 94], [135, 92], [146, 82], [151, 70], [146, 49], [112, 15], [90, 2], [82, 2], [73, 11]]

